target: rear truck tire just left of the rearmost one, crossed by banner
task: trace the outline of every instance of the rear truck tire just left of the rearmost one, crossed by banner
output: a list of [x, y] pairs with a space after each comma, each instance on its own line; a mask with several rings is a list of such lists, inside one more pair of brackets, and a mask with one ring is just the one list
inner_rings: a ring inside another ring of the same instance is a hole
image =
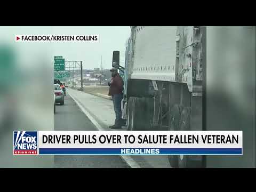
[[[180, 115], [183, 110], [183, 105], [174, 105], [169, 111], [169, 131], [179, 130]], [[169, 163], [171, 167], [176, 168], [178, 166], [178, 156], [169, 155]]]

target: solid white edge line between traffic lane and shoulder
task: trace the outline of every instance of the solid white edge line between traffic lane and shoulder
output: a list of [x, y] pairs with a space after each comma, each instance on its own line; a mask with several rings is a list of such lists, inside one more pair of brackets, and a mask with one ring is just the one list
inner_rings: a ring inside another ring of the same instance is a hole
[[[95, 127], [99, 131], [106, 131], [103, 129], [100, 124], [89, 114], [89, 112], [74, 98], [74, 96], [70, 93], [68, 93], [70, 97], [75, 101], [76, 105], [83, 111], [83, 113], [90, 119], [90, 121], [95, 125]], [[141, 166], [136, 163], [131, 156], [126, 155], [120, 155], [123, 160], [132, 168], [141, 168]]]

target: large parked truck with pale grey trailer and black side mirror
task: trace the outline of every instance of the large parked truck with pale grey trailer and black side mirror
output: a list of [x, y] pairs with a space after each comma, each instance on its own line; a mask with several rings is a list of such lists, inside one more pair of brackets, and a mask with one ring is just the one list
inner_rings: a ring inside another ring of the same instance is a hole
[[[128, 130], [203, 130], [205, 28], [131, 26], [124, 71]], [[169, 156], [172, 167], [201, 167], [202, 156]]]

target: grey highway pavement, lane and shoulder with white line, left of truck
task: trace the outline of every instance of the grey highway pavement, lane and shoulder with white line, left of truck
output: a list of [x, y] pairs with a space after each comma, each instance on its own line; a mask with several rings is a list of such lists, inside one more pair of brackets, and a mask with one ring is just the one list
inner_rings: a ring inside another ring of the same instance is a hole
[[[59, 106], [57, 104], [56, 106], [54, 130], [113, 131], [109, 129], [109, 125], [113, 125], [114, 121], [113, 101], [68, 88], [65, 105]], [[55, 167], [171, 168], [167, 156], [157, 155], [55, 156], [54, 164]]]

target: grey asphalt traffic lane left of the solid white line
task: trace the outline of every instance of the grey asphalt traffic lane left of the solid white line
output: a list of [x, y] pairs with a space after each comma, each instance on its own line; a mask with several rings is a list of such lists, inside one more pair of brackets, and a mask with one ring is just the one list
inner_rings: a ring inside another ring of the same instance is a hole
[[[54, 115], [55, 131], [97, 131], [92, 122], [79, 109], [74, 100], [66, 94], [65, 104], [56, 105]], [[129, 168], [120, 156], [99, 155], [55, 155], [54, 166], [63, 168]]]

